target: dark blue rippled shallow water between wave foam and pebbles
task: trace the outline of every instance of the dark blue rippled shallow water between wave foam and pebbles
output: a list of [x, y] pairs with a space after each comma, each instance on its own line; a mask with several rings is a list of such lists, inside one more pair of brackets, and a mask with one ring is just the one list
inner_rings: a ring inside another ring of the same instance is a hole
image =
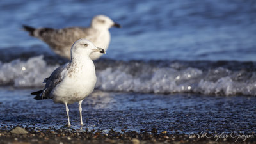
[[[1, 91], [0, 129], [10, 130], [17, 125], [28, 129], [66, 129], [65, 106], [52, 100], [34, 100], [28, 95], [30, 91]], [[173, 134], [205, 130], [248, 133], [256, 132], [255, 102], [255, 97], [95, 92], [84, 100], [82, 107], [84, 127], [89, 130], [141, 132], [156, 128]], [[77, 104], [68, 107], [72, 129], [80, 129]]]

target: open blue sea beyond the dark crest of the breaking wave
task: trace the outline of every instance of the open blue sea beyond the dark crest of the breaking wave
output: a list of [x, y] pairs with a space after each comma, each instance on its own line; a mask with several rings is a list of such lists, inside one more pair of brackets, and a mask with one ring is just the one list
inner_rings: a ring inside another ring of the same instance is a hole
[[51, 52], [21, 30], [22, 24], [88, 26], [108, 15], [111, 29], [104, 58], [118, 60], [256, 61], [255, 1], [1, 1], [0, 49]]

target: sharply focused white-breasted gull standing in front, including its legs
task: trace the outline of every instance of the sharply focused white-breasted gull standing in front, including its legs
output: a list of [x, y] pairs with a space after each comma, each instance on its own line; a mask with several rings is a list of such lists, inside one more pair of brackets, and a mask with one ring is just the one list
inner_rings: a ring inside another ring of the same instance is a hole
[[92, 93], [96, 83], [95, 67], [89, 57], [93, 52], [105, 53], [104, 49], [95, 47], [86, 39], [77, 40], [71, 47], [71, 60], [58, 67], [44, 80], [44, 90], [33, 92], [31, 95], [36, 95], [36, 100], [53, 99], [55, 103], [65, 104], [67, 115], [67, 104], [78, 102], [80, 124], [83, 125], [81, 104], [84, 98]]

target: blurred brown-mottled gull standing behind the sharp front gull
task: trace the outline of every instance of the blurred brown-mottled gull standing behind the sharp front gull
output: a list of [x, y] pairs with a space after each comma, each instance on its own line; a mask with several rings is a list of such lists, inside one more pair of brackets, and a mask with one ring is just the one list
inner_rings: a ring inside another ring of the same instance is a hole
[[[70, 47], [73, 42], [80, 38], [86, 38], [97, 47], [102, 47], [105, 51], [108, 49], [110, 42], [109, 28], [112, 26], [120, 28], [120, 24], [116, 24], [105, 15], [97, 15], [93, 17], [90, 27], [69, 27], [63, 29], [53, 28], [32, 28], [31, 26], [23, 26], [24, 30], [29, 31], [29, 35], [39, 38], [48, 44], [52, 51], [60, 56], [70, 59]], [[90, 55], [92, 60], [97, 60], [102, 54], [93, 53]]]

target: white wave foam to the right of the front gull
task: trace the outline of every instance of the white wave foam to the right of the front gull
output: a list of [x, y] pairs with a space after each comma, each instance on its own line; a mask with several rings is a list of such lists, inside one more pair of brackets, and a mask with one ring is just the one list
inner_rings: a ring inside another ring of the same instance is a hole
[[[150, 70], [148, 70], [150, 71]], [[215, 72], [216, 74], [212, 74]], [[119, 68], [107, 68], [98, 72], [97, 87], [101, 90], [139, 93], [202, 93], [205, 95], [256, 95], [255, 77], [234, 81], [225, 68], [203, 72], [198, 68], [158, 68], [151, 77], [143, 79], [122, 72]], [[238, 72], [239, 73], [239, 72]], [[229, 76], [226, 76], [229, 74]], [[253, 73], [255, 75], [255, 73]], [[223, 77], [224, 76], [224, 77]], [[209, 79], [209, 80], [208, 80]]]

